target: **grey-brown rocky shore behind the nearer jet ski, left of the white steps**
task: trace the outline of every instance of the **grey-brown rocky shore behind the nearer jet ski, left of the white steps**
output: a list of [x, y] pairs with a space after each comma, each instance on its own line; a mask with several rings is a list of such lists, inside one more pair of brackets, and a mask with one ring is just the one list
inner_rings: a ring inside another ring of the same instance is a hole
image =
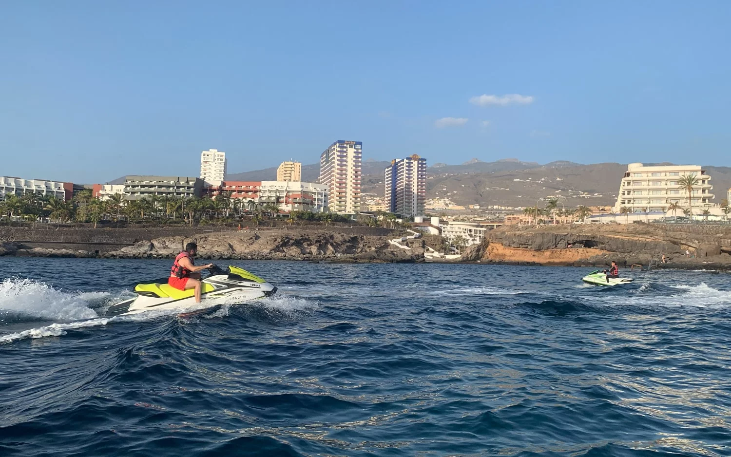
[[340, 263], [422, 262], [423, 242], [409, 240], [401, 249], [388, 237], [338, 233], [323, 230], [242, 230], [196, 236], [166, 236], [139, 241], [121, 249], [94, 253], [86, 250], [23, 248], [12, 242], [0, 243], [0, 255], [28, 257], [99, 257], [115, 259], [174, 258], [189, 241], [198, 244], [198, 257], [206, 260], [322, 260]]

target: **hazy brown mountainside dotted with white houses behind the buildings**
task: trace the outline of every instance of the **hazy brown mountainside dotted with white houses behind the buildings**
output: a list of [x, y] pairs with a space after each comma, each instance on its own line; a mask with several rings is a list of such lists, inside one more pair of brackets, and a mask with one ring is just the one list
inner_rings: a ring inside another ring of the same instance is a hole
[[[363, 162], [363, 192], [383, 195], [384, 169], [390, 162]], [[650, 165], [650, 164], [647, 164]], [[653, 164], [661, 165], [661, 164]], [[662, 165], [672, 165], [663, 163]], [[715, 203], [726, 198], [731, 187], [731, 167], [704, 166], [711, 175]], [[558, 160], [545, 165], [502, 159], [482, 162], [471, 159], [462, 165], [434, 164], [428, 167], [427, 196], [445, 197], [458, 205], [528, 206], [539, 198], [561, 196], [564, 205], [607, 205], [617, 199], [619, 183], [627, 166], [618, 163], [582, 165]], [[302, 180], [317, 182], [319, 164], [302, 166]], [[274, 181], [276, 167], [231, 173], [230, 181]], [[124, 177], [111, 181], [124, 184]], [[540, 203], [539, 203], [540, 204]]]

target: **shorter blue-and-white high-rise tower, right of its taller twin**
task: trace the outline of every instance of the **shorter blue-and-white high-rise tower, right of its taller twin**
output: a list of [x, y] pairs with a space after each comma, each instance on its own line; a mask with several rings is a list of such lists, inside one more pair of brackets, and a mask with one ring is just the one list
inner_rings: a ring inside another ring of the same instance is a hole
[[393, 159], [385, 173], [385, 203], [391, 213], [423, 216], [426, 202], [426, 159], [417, 154]]

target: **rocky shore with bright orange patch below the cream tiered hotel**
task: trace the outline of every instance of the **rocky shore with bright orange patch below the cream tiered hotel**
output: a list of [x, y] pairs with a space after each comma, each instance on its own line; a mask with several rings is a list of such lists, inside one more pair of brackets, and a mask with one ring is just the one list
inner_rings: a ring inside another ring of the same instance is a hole
[[[686, 251], [690, 257], [686, 257]], [[665, 263], [662, 263], [662, 257]], [[471, 246], [463, 261], [731, 270], [731, 227], [673, 224], [507, 226]]]

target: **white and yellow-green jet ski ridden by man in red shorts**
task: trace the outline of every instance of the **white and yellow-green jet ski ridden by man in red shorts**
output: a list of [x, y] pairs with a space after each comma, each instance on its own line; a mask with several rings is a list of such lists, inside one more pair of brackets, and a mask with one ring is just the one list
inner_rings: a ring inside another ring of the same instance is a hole
[[135, 298], [110, 306], [106, 317], [140, 314], [146, 311], [170, 309], [206, 309], [226, 303], [243, 303], [256, 298], [269, 297], [276, 287], [243, 268], [230, 265], [228, 271], [213, 265], [209, 275], [202, 279], [200, 303], [195, 303], [194, 290], [179, 290], [167, 284], [167, 277], [138, 282], [132, 287]]

